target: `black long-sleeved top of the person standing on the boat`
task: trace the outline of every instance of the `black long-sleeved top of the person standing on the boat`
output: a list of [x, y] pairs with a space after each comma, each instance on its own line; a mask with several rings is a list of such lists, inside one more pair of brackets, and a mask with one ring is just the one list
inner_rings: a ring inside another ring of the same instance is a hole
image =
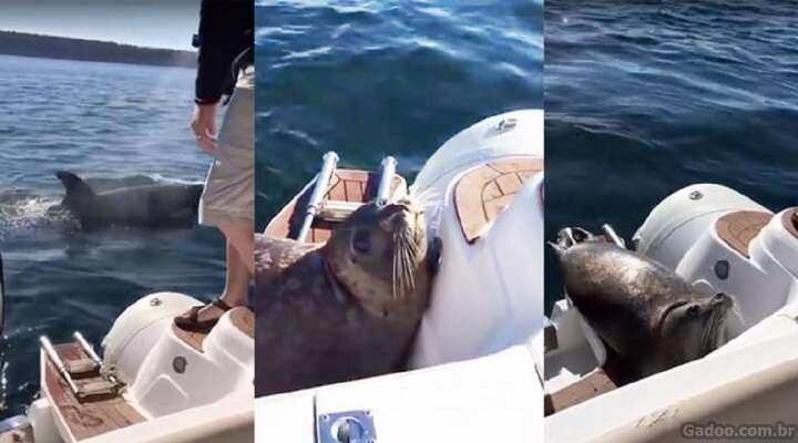
[[253, 64], [254, 0], [203, 0], [197, 43], [197, 103], [229, 95], [238, 70]]

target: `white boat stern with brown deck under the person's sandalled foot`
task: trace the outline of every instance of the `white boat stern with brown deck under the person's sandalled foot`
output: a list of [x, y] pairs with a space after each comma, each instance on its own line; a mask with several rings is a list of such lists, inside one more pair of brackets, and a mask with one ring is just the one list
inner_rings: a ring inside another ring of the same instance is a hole
[[115, 319], [100, 351], [79, 331], [61, 343], [40, 337], [41, 394], [0, 422], [0, 442], [252, 442], [253, 312], [234, 308], [207, 334], [174, 326], [197, 305], [147, 295]]

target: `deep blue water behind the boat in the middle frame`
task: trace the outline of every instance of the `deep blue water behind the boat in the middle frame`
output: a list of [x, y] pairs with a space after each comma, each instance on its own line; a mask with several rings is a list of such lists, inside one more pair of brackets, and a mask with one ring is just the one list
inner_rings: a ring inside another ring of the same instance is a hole
[[460, 130], [541, 107], [542, 20], [540, 0], [258, 2], [258, 227], [327, 151], [412, 179]]

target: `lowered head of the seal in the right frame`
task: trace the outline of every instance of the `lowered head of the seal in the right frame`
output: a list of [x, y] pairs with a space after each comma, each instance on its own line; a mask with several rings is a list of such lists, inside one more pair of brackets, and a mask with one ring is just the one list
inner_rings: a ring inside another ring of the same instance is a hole
[[683, 343], [686, 361], [699, 359], [725, 342], [726, 318], [733, 306], [725, 293], [676, 302], [663, 313], [659, 337]]

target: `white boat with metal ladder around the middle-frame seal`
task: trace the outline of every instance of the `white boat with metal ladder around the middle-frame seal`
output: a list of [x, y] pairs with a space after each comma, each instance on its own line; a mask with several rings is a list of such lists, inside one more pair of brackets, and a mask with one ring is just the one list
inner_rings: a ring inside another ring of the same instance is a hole
[[431, 306], [406, 370], [256, 399], [257, 441], [540, 440], [543, 112], [462, 131], [410, 186], [392, 157], [374, 172], [337, 163], [328, 153], [266, 233], [323, 243], [362, 203], [416, 196], [442, 243]]

